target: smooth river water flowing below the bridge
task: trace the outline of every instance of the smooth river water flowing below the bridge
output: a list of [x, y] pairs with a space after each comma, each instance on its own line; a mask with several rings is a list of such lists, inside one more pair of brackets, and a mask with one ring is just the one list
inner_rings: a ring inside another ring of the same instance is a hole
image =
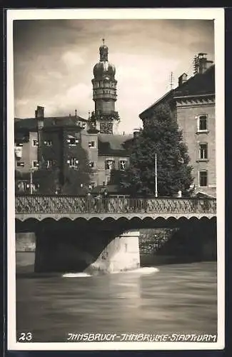
[[16, 325], [34, 342], [68, 333], [217, 331], [216, 262], [170, 264], [106, 276], [20, 276]]

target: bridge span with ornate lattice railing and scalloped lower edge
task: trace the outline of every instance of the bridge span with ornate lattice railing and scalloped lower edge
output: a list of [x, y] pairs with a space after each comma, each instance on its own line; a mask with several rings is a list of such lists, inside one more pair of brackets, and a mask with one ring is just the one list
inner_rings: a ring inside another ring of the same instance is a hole
[[131, 219], [139, 217], [180, 218], [216, 216], [215, 198], [123, 198], [104, 199], [79, 196], [16, 196], [15, 216], [20, 221], [36, 218], [100, 218]]

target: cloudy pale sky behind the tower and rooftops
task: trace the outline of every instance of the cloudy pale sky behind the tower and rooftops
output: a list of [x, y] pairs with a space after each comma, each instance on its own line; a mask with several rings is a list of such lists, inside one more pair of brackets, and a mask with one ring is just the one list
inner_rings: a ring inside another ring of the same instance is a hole
[[138, 115], [178, 84], [183, 72], [193, 75], [199, 52], [214, 60], [211, 20], [16, 20], [14, 21], [14, 110], [18, 118], [45, 116], [88, 118], [94, 110], [94, 64], [102, 39], [116, 66], [121, 117], [118, 131], [142, 126]]

